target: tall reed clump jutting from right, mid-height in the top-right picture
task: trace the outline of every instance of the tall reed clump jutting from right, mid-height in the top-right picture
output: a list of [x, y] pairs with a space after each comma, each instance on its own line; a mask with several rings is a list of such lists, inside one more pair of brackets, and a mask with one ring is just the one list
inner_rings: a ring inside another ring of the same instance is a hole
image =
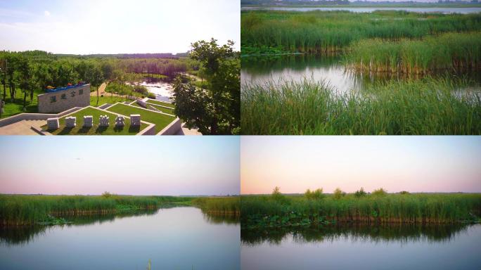
[[477, 70], [481, 68], [481, 32], [446, 33], [421, 40], [363, 39], [349, 46], [345, 63], [361, 72]]

